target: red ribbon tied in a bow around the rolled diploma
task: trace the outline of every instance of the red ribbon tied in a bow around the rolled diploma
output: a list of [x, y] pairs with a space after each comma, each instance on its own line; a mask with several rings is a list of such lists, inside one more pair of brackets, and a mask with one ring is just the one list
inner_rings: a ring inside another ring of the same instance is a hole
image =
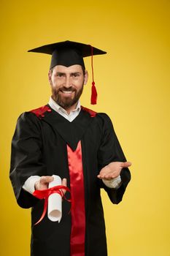
[[42, 219], [45, 217], [45, 214], [47, 212], [48, 197], [50, 197], [50, 195], [52, 195], [54, 193], [57, 193], [57, 194], [61, 195], [61, 197], [63, 197], [66, 201], [71, 203], [71, 200], [67, 199], [65, 197], [65, 195], [63, 194], [63, 191], [61, 189], [64, 189], [64, 190], [70, 192], [70, 189], [68, 187], [65, 187], [65, 186], [55, 186], [55, 187], [51, 187], [50, 189], [43, 189], [43, 190], [35, 190], [34, 191], [34, 193], [33, 193], [34, 197], [37, 197], [39, 199], [45, 199], [45, 206], [44, 206], [44, 210], [43, 210], [43, 213], [42, 213], [42, 217], [40, 217], [38, 222], [36, 222], [34, 225], [41, 222]]

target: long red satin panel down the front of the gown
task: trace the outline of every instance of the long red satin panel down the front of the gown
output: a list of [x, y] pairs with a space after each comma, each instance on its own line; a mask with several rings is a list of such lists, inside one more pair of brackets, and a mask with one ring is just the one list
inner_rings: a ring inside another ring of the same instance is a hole
[[85, 256], [85, 189], [82, 170], [81, 142], [72, 151], [67, 145], [70, 190], [72, 200], [72, 231], [70, 238], [71, 256]]

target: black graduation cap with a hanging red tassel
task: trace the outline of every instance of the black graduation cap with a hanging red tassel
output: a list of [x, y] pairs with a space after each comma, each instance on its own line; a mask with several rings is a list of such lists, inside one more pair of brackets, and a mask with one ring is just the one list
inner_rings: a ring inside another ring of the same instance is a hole
[[[28, 50], [28, 52], [34, 53], [46, 53], [52, 55], [50, 69], [56, 65], [62, 65], [65, 67], [70, 67], [75, 64], [81, 65], [85, 69], [85, 64], [83, 61], [84, 57], [91, 56], [91, 67], [92, 67], [92, 77], [93, 77], [93, 55], [105, 54], [103, 50], [94, 48], [92, 45], [85, 45], [80, 42], [64, 41], [55, 42], [50, 45], [43, 45], [39, 48], [34, 48]], [[95, 87], [95, 82], [92, 82], [92, 92], [91, 92], [91, 104], [96, 104], [97, 91]]]

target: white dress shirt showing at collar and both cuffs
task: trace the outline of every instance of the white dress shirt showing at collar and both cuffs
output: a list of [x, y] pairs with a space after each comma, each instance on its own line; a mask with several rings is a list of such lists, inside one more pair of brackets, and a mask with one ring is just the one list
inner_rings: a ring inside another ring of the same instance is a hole
[[[77, 103], [77, 107], [72, 110], [70, 113], [67, 113], [66, 110], [64, 110], [60, 105], [58, 105], [52, 97], [50, 97], [50, 101], [48, 102], [50, 105], [50, 108], [55, 110], [57, 113], [59, 113], [61, 116], [66, 118], [68, 121], [72, 122], [74, 118], [76, 118], [81, 110], [80, 101]], [[41, 177], [40, 176], [31, 176], [29, 177], [26, 182], [23, 184], [23, 189], [25, 189], [27, 192], [30, 192], [31, 194], [34, 193], [35, 190], [35, 183], [36, 181], [39, 181]], [[120, 176], [117, 176], [116, 178], [113, 178], [110, 181], [102, 180], [104, 184], [109, 188], [118, 189], [121, 184], [121, 178]]]

